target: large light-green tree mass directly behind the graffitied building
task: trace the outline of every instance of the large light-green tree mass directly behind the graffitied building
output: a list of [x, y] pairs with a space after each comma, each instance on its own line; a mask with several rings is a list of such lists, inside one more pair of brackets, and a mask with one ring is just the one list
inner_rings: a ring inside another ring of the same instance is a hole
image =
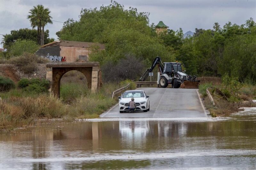
[[131, 7], [125, 10], [115, 1], [100, 9], [82, 9], [80, 20], [68, 19], [58, 35], [62, 40], [104, 43], [105, 50], [95, 49], [90, 55], [91, 61], [100, 63], [117, 63], [125, 55], [142, 58], [146, 63], [156, 56], [163, 61], [175, 60], [172, 49], [149, 26], [148, 13]]

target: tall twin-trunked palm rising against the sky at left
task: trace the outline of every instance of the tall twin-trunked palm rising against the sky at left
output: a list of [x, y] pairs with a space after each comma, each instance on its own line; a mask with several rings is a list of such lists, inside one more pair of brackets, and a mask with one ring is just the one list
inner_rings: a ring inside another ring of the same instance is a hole
[[44, 26], [48, 23], [52, 24], [49, 8], [44, 8], [43, 5], [36, 5], [29, 10], [28, 19], [32, 28], [37, 27], [37, 43], [44, 45]]

